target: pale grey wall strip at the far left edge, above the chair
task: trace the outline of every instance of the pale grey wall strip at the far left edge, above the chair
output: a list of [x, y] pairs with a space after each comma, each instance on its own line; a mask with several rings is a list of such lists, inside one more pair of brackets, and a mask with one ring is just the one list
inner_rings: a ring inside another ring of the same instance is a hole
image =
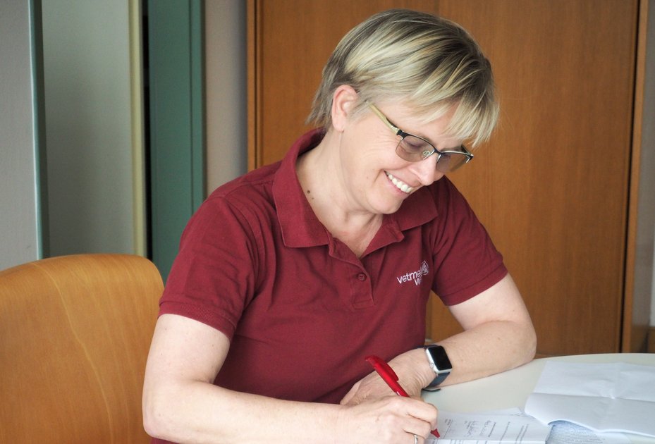
[[42, 255], [29, 6], [0, 1], [0, 270]]

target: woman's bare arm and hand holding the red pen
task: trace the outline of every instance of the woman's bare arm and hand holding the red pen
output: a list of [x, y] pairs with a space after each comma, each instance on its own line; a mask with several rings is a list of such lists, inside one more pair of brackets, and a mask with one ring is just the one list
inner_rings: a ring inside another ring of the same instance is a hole
[[[436, 426], [436, 409], [384, 397], [356, 406], [276, 400], [212, 383], [230, 341], [173, 314], [157, 321], [143, 389], [144, 426], [178, 443], [413, 443]], [[420, 438], [419, 442], [423, 442]]]

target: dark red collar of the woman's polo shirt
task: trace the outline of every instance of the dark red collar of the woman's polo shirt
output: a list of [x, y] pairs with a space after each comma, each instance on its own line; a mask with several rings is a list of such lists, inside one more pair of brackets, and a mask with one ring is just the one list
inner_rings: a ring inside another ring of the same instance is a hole
[[[302, 192], [295, 164], [300, 154], [317, 147], [323, 139], [322, 128], [302, 135], [289, 149], [275, 173], [273, 198], [282, 238], [287, 247], [314, 247], [329, 245], [330, 235], [318, 220]], [[385, 214], [382, 226], [369, 245], [367, 252], [403, 240], [403, 230], [423, 225], [438, 216], [431, 192], [421, 188], [400, 206], [393, 214]]]

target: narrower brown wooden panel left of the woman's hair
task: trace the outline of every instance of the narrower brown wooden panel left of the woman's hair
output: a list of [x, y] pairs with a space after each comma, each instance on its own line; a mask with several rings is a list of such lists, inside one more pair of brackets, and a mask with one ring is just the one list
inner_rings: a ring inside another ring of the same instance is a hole
[[[281, 159], [302, 132], [321, 72], [341, 37], [372, 14], [388, 8], [434, 9], [434, 0], [252, 1], [259, 46], [251, 85], [257, 122], [250, 168]], [[251, 8], [252, 10], [252, 8]], [[252, 14], [252, 12], [251, 12]], [[252, 63], [250, 68], [253, 68]], [[250, 69], [249, 68], [249, 69]]]

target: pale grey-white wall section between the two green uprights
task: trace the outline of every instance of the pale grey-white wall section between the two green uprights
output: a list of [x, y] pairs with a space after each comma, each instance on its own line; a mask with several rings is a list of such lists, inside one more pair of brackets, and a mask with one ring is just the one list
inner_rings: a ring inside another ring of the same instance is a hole
[[134, 249], [129, 3], [42, 2], [53, 256]]

